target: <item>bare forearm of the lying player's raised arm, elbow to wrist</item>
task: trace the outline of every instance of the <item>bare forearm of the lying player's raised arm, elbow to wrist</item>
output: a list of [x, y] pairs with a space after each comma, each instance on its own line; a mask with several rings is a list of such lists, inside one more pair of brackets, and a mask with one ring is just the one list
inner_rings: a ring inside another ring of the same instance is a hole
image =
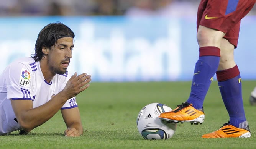
[[52, 118], [67, 100], [68, 97], [60, 92], [45, 104], [23, 112], [17, 117], [18, 122], [26, 132], [30, 132]]

